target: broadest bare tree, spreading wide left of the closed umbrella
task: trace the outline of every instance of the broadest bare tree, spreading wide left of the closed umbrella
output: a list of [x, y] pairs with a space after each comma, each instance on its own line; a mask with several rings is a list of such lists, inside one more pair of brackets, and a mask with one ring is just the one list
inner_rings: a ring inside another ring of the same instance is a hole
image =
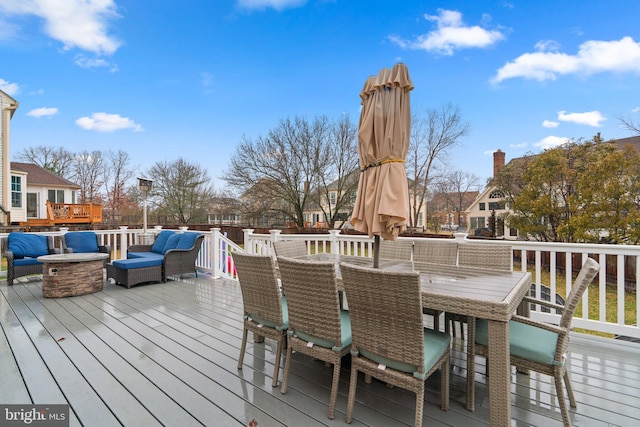
[[261, 183], [261, 197], [277, 202], [270, 203], [272, 209], [302, 227], [310, 189], [317, 186], [319, 164], [327, 156], [329, 133], [329, 119], [319, 116], [311, 122], [281, 120], [268, 136], [255, 140], [243, 136], [224, 180], [243, 193]]

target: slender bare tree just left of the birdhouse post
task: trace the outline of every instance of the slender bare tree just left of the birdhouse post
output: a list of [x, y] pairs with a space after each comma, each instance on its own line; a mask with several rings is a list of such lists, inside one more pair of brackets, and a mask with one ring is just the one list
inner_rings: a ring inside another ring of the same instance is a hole
[[130, 212], [136, 199], [131, 198], [127, 185], [134, 178], [135, 169], [130, 165], [129, 153], [118, 150], [108, 151], [103, 168], [103, 182], [106, 189], [103, 216], [111, 221]]

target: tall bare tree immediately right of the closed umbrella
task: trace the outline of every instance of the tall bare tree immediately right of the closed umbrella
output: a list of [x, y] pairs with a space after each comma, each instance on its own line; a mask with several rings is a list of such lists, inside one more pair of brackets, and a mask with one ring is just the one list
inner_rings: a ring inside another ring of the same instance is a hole
[[430, 181], [438, 163], [446, 160], [453, 148], [469, 133], [460, 109], [446, 104], [439, 110], [428, 109], [426, 115], [412, 114], [411, 141], [407, 155], [409, 194], [412, 198], [409, 225], [415, 227], [418, 214], [426, 202]]

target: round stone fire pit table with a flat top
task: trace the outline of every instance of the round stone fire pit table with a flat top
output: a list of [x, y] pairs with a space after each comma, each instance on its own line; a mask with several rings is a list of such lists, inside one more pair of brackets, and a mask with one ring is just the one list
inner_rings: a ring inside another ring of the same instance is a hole
[[72, 297], [102, 290], [105, 253], [43, 255], [42, 295], [45, 298]]

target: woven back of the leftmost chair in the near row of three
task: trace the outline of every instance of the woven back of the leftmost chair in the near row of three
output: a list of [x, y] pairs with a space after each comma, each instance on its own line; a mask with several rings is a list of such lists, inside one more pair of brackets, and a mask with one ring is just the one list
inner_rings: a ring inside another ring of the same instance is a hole
[[240, 252], [234, 252], [232, 257], [238, 272], [244, 313], [281, 325], [281, 294], [273, 258]]

